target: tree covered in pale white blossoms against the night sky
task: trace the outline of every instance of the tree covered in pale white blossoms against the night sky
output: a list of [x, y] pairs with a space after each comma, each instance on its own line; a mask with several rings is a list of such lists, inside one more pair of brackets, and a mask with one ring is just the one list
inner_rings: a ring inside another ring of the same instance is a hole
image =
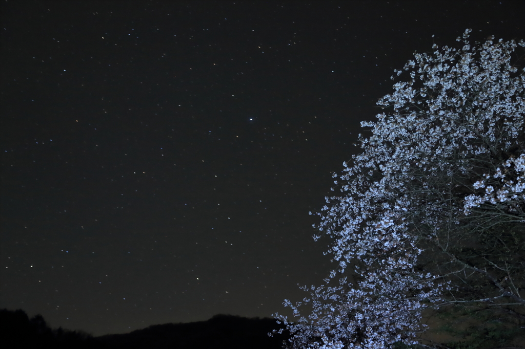
[[371, 136], [317, 213], [338, 268], [285, 301], [293, 322], [275, 315], [289, 348], [416, 344], [421, 312], [449, 304], [525, 318], [525, 43], [469, 32], [415, 53], [361, 123]]

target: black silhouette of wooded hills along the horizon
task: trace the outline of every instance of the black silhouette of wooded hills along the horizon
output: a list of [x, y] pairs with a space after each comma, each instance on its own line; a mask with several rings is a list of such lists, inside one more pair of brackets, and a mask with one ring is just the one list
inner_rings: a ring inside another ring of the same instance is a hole
[[0, 310], [2, 348], [122, 348], [122, 349], [280, 349], [286, 334], [269, 337], [280, 328], [273, 319], [215, 315], [207, 321], [152, 325], [125, 334], [94, 337], [83, 331], [51, 329], [41, 315], [29, 319], [25, 311]]

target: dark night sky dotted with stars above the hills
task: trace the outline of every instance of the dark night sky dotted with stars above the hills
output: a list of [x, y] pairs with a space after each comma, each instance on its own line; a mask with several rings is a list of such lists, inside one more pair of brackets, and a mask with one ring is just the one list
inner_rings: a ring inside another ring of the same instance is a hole
[[95, 335], [288, 313], [393, 70], [525, 38], [523, 1], [1, 4], [0, 308]]

